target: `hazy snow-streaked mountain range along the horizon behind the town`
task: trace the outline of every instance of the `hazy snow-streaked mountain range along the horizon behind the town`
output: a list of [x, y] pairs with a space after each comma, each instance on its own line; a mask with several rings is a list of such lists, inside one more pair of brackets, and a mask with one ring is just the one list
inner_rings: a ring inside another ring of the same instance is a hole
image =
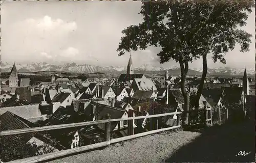
[[[95, 66], [95, 65], [78, 65], [76, 63], [68, 63], [61, 65], [48, 64], [46, 62], [19, 64], [16, 63], [18, 72], [38, 72], [38, 71], [65, 71], [74, 73], [94, 73], [103, 72], [106, 74], [121, 74], [126, 72], [125, 66]], [[13, 64], [1, 61], [1, 72], [10, 72]], [[170, 75], [179, 75], [180, 68], [173, 66], [169, 68], [155, 67], [149, 64], [143, 64], [136, 67], [135, 73], [164, 73], [168, 70]], [[188, 75], [201, 75], [203, 69], [189, 68]], [[255, 68], [246, 68], [248, 75], [255, 75]], [[244, 69], [236, 69], [231, 67], [208, 68], [210, 75], [243, 75]]]

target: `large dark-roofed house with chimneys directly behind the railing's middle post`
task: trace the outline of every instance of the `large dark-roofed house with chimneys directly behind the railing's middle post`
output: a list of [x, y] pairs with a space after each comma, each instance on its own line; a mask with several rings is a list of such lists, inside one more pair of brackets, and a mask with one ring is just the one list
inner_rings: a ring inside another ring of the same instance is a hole
[[[128, 112], [119, 108], [104, 105], [97, 102], [91, 102], [85, 110], [87, 121], [99, 121], [106, 119], [106, 115], [110, 114], [110, 119], [128, 118]], [[134, 127], [137, 127], [133, 123]], [[127, 130], [127, 121], [116, 121], [111, 123], [111, 131], [120, 132], [120, 130]], [[105, 124], [98, 124], [97, 128], [104, 131]]]

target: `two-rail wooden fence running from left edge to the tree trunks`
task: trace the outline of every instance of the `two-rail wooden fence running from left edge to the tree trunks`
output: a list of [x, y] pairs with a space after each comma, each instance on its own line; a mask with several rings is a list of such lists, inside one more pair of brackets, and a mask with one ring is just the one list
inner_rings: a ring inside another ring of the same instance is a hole
[[[182, 114], [182, 112], [173, 112], [173, 113], [165, 113], [165, 114], [150, 115], [150, 116], [129, 117], [129, 118], [121, 118], [121, 119], [110, 119], [110, 117], [109, 117], [109, 119], [105, 119], [105, 120], [101, 120], [101, 121], [90, 121], [90, 122], [61, 124], [61, 125], [52, 125], [52, 126], [44, 126], [44, 127], [33, 127], [33, 128], [25, 128], [25, 129], [6, 130], [6, 131], [1, 131], [0, 135], [2, 137], [4, 135], [22, 134], [22, 133], [38, 132], [38, 131], [49, 131], [49, 130], [56, 130], [56, 129], [63, 129], [63, 128], [82, 127], [82, 126], [106, 123], [106, 125], [105, 125], [105, 127], [106, 127], [106, 129], [105, 129], [105, 142], [91, 144], [91, 145], [77, 147], [77, 148], [72, 148], [72, 149], [67, 149], [67, 150], [62, 150], [62, 151], [57, 151], [57, 152], [52, 152], [52, 153], [48, 153], [48, 154], [33, 156], [33, 157], [14, 160], [14, 161], [9, 161], [9, 163], [14, 163], [14, 162], [15, 163], [18, 163], [18, 162], [32, 163], [32, 162], [39, 162], [39, 161], [47, 161], [47, 160], [50, 160], [50, 159], [56, 159], [56, 158], [59, 158], [59, 157], [62, 157], [62, 156], [67, 156], [67, 155], [74, 154], [74, 153], [85, 152], [85, 151], [88, 151], [88, 150], [105, 147], [105, 146], [108, 146], [108, 145], [113, 144], [113, 143], [118, 143], [118, 142], [121, 142], [121, 141], [126, 141], [126, 140], [130, 140], [130, 139], [134, 139], [134, 138], [143, 137], [143, 136], [148, 135], [148, 134], [153, 134], [153, 133], [157, 133], [157, 132], [161, 132], [161, 131], [166, 131], [166, 130], [170, 130], [170, 129], [174, 129], [174, 128], [179, 128], [179, 127], [181, 127], [181, 125], [180, 125], [180, 114]], [[128, 121], [131, 122], [135, 119], [156, 118], [156, 117], [164, 117], [164, 116], [170, 116], [170, 115], [177, 115], [177, 124], [176, 124], [176, 126], [161, 128], [161, 129], [152, 130], [152, 131], [146, 131], [146, 132], [137, 133], [137, 134], [131, 134], [131, 135], [126, 136], [126, 137], [121, 137], [121, 138], [112, 139], [112, 140], [110, 138], [110, 136], [111, 136], [111, 122], [125, 121], [125, 120], [128, 120]]]

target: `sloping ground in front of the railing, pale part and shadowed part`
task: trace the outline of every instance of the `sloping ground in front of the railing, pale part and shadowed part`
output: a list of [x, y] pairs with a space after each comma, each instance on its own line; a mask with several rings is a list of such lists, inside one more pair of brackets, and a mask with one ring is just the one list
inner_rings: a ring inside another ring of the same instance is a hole
[[[53, 162], [235, 162], [253, 161], [253, 125], [225, 125], [165, 132], [111, 145]], [[252, 131], [252, 132], [251, 132]], [[248, 156], [236, 156], [251, 151]]]

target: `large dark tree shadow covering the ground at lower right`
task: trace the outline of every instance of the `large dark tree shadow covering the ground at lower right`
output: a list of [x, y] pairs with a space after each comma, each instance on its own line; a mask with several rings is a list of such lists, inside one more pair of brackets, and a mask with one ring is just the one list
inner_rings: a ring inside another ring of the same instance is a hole
[[[164, 162], [255, 161], [254, 121], [206, 127], [197, 132], [201, 132], [200, 137], [178, 149]], [[248, 154], [241, 156], [240, 151]]]

